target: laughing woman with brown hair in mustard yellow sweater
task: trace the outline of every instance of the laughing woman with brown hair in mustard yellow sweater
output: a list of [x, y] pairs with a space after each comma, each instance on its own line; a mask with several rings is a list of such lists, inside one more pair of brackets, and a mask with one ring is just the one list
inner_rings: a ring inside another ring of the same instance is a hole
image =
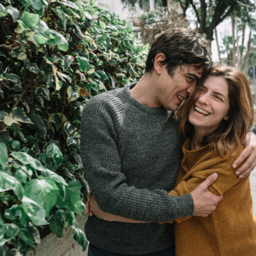
[[[175, 220], [176, 255], [256, 255], [250, 179], [237, 178], [232, 169], [254, 121], [248, 80], [235, 68], [214, 68], [177, 116], [186, 140], [176, 188], [169, 194], [188, 194], [207, 176], [217, 173], [218, 179], [209, 190], [224, 199], [207, 218]], [[92, 210], [109, 221], [141, 222]]]

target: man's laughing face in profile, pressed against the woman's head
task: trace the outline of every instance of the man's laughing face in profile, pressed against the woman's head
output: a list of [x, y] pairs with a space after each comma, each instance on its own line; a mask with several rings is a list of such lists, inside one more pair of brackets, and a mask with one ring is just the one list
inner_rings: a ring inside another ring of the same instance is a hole
[[202, 77], [203, 68], [183, 64], [174, 69], [174, 75], [168, 74], [166, 65], [161, 68], [156, 90], [158, 104], [165, 109], [176, 111], [183, 100], [187, 99], [196, 87], [196, 82]]

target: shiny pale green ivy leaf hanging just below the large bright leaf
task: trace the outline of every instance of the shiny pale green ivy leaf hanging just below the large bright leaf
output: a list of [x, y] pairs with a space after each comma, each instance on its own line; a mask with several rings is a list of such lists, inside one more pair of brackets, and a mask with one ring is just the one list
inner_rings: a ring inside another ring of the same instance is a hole
[[45, 220], [46, 211], [38, 203], [29, 199], [27, 196], [23, 196], [21, 205], [35, 226], [48, 224]]

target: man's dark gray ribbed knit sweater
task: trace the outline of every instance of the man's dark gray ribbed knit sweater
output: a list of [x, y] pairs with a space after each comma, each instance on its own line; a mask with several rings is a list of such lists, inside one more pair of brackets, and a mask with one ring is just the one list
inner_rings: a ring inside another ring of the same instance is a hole
[[[130, 85], [132, 86], [132, 85]], [[105, 212], [152, 223], [89, 217], [89, 241], [113, 253], [140, 255], [174, 244], [172, 225], [192, 215], [190, 194], [168, 196], [181, 161], [182, 140], [171, 111], [137, 102], [130, 86], [102, 93], [82, 113], [81, 155], [86, 179]]]

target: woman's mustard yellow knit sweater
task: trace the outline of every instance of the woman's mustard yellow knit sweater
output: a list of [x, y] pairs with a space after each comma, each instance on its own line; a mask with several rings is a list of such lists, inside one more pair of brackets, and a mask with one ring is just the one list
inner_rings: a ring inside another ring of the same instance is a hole
[[189, 150], [190, 140], [183, 145], [183, 159], [176, 179], [176, 188], [169, 194], [188, 194], [210, 174], [217, 172], [217, 181], [209, 188], [224, 199], [207, 218], [184, 217], [174, 224], [176, 256], [255, 256], [256, 218], [250, 194], [250, 179], [239, 179], [232, 163], [235, 156], [219, 156], [209, 146]]

